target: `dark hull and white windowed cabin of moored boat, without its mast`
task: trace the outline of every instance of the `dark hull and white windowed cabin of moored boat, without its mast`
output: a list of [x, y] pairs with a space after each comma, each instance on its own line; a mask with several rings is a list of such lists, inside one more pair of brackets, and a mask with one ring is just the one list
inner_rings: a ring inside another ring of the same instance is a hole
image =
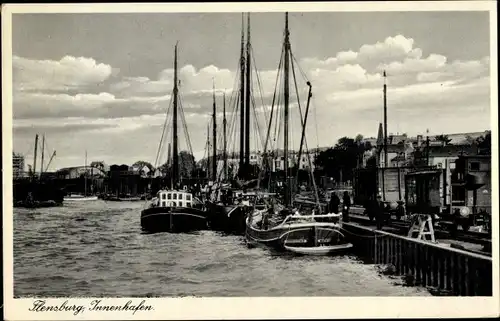
[[141, 227], [152, 233], [204, 230], [208, 227], [207, 211], [191, 193], [160, 190], [142, 210]]

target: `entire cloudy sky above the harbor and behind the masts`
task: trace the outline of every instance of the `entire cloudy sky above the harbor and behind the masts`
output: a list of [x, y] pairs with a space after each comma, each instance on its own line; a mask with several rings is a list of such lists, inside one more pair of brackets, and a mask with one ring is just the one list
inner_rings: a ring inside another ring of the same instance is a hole
[[[302, 105], [305, 80], [313, 86], [310, 147], [376, 135], [383, 70], [389, 132], [490, 128], [487, 12], [290, 13], [289, 19]], [[204, 155], [213, 82], [218, 108], [222, 91], [228, 113], [234, 108], [241, 13], [14, 14], [12, 23], [13, 147], [28, 162], [39, 133], [49, 153], [57, 150], [52, 170], [83, 164], [85, 150], [89, 162], [154, 163], [177, 41], [182, 105], [197, 159]], [[284, 14], [252, 13], [251, 23], [262, 120], [274, 92]], [[292, 129], [297, 142], [296, 122]]]

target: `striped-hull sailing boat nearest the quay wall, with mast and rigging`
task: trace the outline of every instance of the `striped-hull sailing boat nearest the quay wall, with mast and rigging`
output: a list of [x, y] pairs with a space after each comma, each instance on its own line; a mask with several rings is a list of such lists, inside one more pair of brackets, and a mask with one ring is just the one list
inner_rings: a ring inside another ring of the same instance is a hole
[[[341, 214], [321, 214], [321, 205], [314, 177], [311, 174], [311, 180], [315, 191], [316, 206], [309, 214], [300, 213], [299, 209], [292, 208], [292, 177], [290, 177], [289, 169], [289, 72], [290, 62], [293, 68], [293, 55], [290, 45], [290, 32], [288, 28], [288, 13], [285, 14], [285, 33], [282, 51], [283, 62], [283, 93], [284, 93], [284, 139], [283, 139], [283, 159], [284, 159], [284, 181], [282, 199], [271, 198], [265, 201], [266, 208], [255, 210], [246, 219], [245, 236], [249, 246], [266, 245], [278, 251], [290, 251], [302, 255], [328, 255], [337, 253], [352, 247], [352, 244], [347, 243], [342, 233], [342, 218]], [[280, 68], [281, 69], [281, 61]], [[278, 70], [279, 74], [280, 70]], [[295, 75], [295, 72], [293, 72]], [[312, 96], [312, 86], [308, 81], [309, 94], [304, 118], [299, 104], [300, 120], [302, 127], [302, 136], [300, 141], [299, 158], [302, 153], [302, 146], [306, 144], [305, 129], [307, 123], [307, 115], [309, 112], [310, 98]], [[297, 83], [295, 82], [297, 88]], [[298, 96], [298, 94], [297, 94]], [[274, 106], [272, 107], [274, 109]], [[267, 150], [267, 143], [271, 129], [273, 118], [273, 109], [269, 120], [268, 133], [264, 150]], [[267, 156], [266, 156], [267, 157]], [[264, 158], [264, 160], [266, 159]], [[309, 162], [311, 160], [308, 155]], [[312, 166], [309, 166], [312, 168]], [[298, 169], [296, 167], [296, 169]], [[259, 184], [260, 184], [259, 176]]]

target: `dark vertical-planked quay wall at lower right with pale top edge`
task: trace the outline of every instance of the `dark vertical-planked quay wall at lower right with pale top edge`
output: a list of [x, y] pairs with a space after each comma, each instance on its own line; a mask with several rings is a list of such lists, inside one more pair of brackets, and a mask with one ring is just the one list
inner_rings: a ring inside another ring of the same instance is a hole
[[390, 264], [413, 285], [453, 296], [491, 296], [491, 257], [343, 223], [353, 250], [365, 261]]

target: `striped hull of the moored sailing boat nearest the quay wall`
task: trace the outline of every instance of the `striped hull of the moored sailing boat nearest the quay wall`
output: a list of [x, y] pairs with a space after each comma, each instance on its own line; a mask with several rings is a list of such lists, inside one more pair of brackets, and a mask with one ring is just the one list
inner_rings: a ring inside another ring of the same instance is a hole
[[247, 223], [245, 237], [251, 246], [264, 245], [278, 251], [285, 251], [285, 245], [314, 247], [346, 243], [340, 229], [329, 223], [293, 224], [269, 230], [257, 229]]

